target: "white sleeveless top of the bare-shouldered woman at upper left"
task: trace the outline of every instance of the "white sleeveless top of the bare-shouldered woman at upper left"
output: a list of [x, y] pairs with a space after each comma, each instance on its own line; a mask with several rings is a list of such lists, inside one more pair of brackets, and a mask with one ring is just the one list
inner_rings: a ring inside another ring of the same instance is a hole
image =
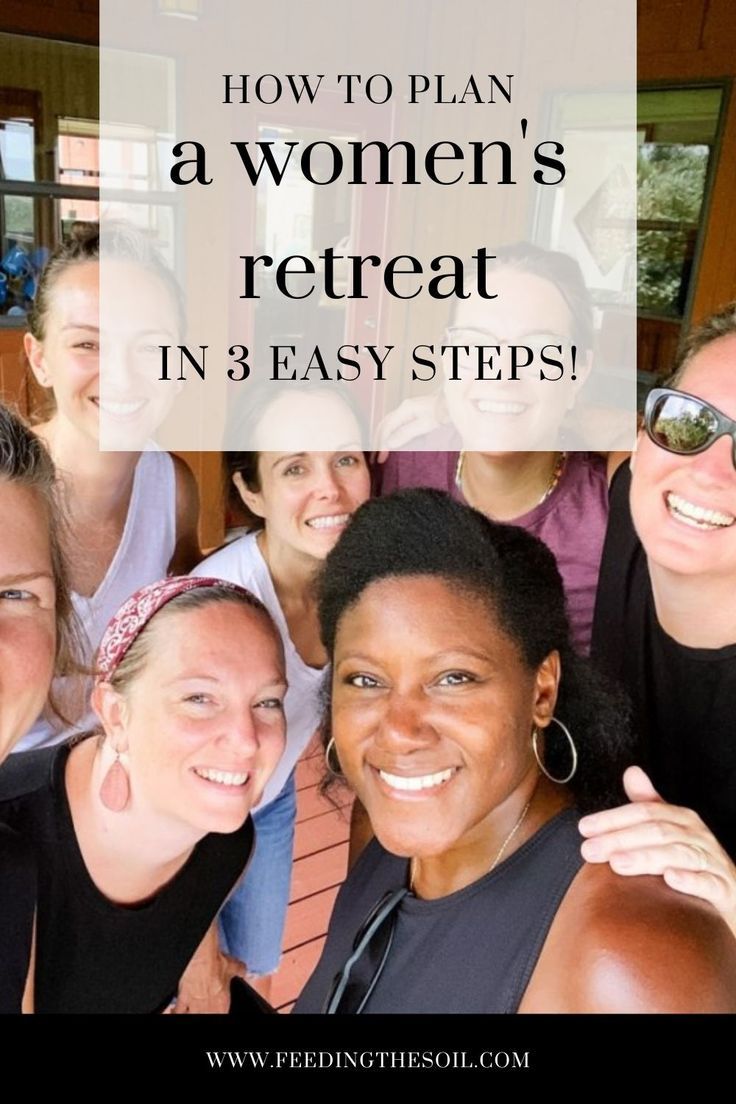
[[[72, 604], [83, 631], [85, 665], [90, 665], [107, 623], [126, 598], [141, 586], [163, 578], [177, 543], [177, 480], [168, 453], [141, 453], [136, 465], [128, 516], [120, 543], [105, 577], [95, 593], [85, 597], [72, 592]], [[54, 679], [56, 697], [68, 697], [71, 679]], [[99, 721], [88, 705], [89, 680], [84, 690], [85, 707], [74, 724], [62, 726], [45, 712], [13, 751], [31, 751], [57, 744], [75, 732], [97, 728]]]

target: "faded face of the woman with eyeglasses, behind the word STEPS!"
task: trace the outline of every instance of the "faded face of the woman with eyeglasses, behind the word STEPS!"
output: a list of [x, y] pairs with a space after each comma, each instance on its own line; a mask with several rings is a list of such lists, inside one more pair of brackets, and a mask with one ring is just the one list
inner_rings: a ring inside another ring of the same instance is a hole
[[[519, 369], [518, 380], [509, 379], [508, 346], [541, 349], [562, 344], [568, 350], [575, 343], [569, 309], [550, 280], [513, 268], [501, 268], [494, 275], [493, 290], [495, 299], [471, 295], [462, 300], [454, 318], [451, 340], [446, 343], [471, 348], [469, 357], [460, 354], [457, 380], [449, 378], [449, 359], [446, 360], [445, 401], [450, 418], [467, 449], [554, 448], [559, 423], [574, 402], [576, 384], [568, 383], [566, 378], [555, 380], [558, 370], [550, 368], [546, 372], [551, 381], [540, 381], [540, 368], [544, 365], [538, 354], [529, 369]], [[484, 370], [488, 379], [477, 380], [477, 354], [472, 346], [497, 344], [501, 346], [501, 357], [494, 353], [493, 369]], [[586, 372], [579, 359], [578, 382]], [[492, 378], [497, 374], [498, 380]]]

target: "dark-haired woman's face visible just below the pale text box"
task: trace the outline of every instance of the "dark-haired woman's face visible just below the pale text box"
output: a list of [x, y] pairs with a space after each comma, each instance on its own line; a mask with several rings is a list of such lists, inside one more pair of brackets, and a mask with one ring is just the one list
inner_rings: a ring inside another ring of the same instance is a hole
[[371, 493], [371, 478], [361, 452], [262, 453], [260, 490], [241, 493], [265, 521], [271, 550], [323, 560], [351, 514]]

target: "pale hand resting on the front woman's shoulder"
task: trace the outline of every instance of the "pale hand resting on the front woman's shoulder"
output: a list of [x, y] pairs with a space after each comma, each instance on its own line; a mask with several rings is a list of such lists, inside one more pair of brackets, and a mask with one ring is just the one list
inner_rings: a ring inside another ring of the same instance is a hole
[[623, 786], [630, 805], [580, 820], [583, 858], [617, 874], [659, 874], [712, 904], [736, 935], [736, 866], [713, 832], [692, 809], [663, 802], [640, 767], [629, 767]]

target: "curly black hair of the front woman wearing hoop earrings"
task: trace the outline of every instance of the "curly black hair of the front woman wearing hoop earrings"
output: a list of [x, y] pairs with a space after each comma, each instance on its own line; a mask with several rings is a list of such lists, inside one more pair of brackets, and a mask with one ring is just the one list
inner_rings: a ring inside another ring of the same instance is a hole
[[[328, 555], [318, 582], [320, 629], [330, 659], [340, 619], [371, 583], [417, 575], [441, 578], [478, 598], [530, 670], [550, 652], [559, 654], [555, 712], [570, 730], [578, 753], [569, 789], [582, 813], [621, 804], [621, 775], [633, 762], [629, 704], [573, 649], [555, 558], [518, 526], [491, 521], [437, 490], [404, 490], [365, 502]], [[569, 747], [564, 736], [555, 736], [553, 726], [545, 766], [564, 777]], [[326, 745], [329, 739], [328, 720]]]

